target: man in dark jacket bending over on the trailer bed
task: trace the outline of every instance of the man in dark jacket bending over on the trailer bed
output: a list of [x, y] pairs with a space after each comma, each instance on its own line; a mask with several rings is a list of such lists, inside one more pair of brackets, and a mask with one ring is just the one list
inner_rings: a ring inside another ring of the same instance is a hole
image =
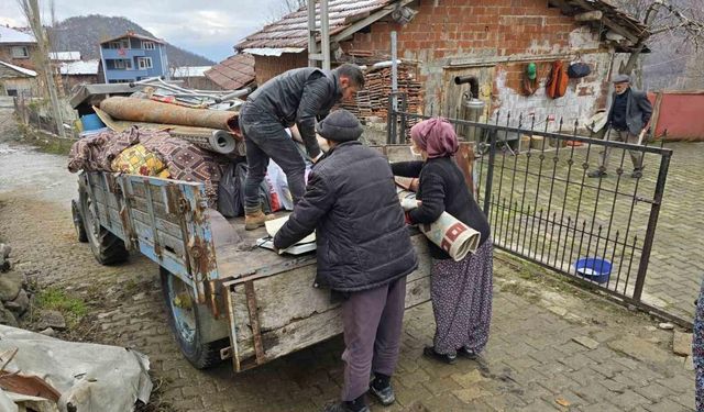
[[306, 164], [286, 129], [294, 124], [314, 160], [322, 153], [316, 138], [316, 119], [324, 118], [336, 103], [350, 100], [364, 87], [364, 74], [344, 64], [332, 71], [318, 68], [288, 70], [256, 89], [240, 110], [240, 129], [246, 147], [244, 180], [244, 229], [264, 225], [258, 188], [272, 158], [286, 174], [294, 203], [306, 190]]

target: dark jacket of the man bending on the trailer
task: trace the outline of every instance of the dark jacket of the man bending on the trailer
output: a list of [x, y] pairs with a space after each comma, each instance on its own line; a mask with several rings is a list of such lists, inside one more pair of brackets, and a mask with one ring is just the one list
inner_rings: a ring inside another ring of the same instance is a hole
[[305, 67], [270, 79], [248, 101], [258, 110], [271, 113], [286, 127], [296, 124], [306, 151], [310, 157], [316, 157], [320, 154], [316, 119], [327, 116], [341, 98], [342, 91], [334, 71]]

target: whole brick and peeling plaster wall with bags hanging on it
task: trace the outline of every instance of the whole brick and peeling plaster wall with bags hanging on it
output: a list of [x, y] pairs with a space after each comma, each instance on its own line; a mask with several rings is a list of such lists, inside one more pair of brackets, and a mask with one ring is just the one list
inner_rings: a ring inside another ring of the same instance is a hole
[[[494, 79], [486, 89], [492, 94], [494, 109], [506, 109], [506, 104], [526, 108], [529, 100], [531, 105], [561, 108], [557, 115], [584, 119], [603, 102], [603, 93], [608, 89], [604, 78], [600, 77], [608, 74], [610, 60], [605, 58], [609, 56], [608, 51], [600, 44], [596, 33], [547, 3], [544, 0], [421, 0], [410, 4], [418, 14], [407, 25], [380, 21], [341, 46], [345, 53], [361, 49], [373, 52], [377, 58], [388, 58], [391, 32], [396, 31], [399, 56], [418, 62], [420, 66], [419, 79], [425, 85], [426, 109], [435, 104], [443, 108], [440, 113], [446, 115], [457, 111], [454, 102], [443, 101], [443, 94], [448, 94], [448, 88], [452, 87], [448, 81], [448, 67], [458, 59], [482, 58], [486, 60], [483, 67], [493, 67]], [[526, 101], [519, 99], [520, 79], [527, 62], [538, 64], [539, 82], [544, 85], [550, 56], [569, 59], [576, 53], [584, 54], [586, 60], [598, 67], [593, 67], [591, 78], [571, 80], [572, 92], [560, 104], [547, 101], [544, 90]], [[517, 55], [522, 57], [515, 58]], [[546, 57], [544, 62], [541, 62], [541, 56]], [[518, 63], [509, 63], [509, 57]], [[498, 86], [508, 89], [502, 90], [505, 96], [499, 96]], [[508, 99], [506, 92], [516, 98]], [[575, 99], [581, 99], [578, 104], [581, 109], [570, 110], [571, 102], [578, 103]]]

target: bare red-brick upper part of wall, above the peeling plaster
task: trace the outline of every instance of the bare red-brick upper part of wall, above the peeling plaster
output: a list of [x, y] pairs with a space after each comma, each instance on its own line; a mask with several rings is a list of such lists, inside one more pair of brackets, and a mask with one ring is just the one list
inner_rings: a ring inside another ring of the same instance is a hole
[[406, 26], [377, 22], [370, 33], [358, 33], [343, 48], [388, 53], [389, 35], [398, 33], [398, 49], [406, 58], [460, 55], [509, 56], [547, 54], [569, 45], [570, 32], [580, 26], [544, 0], [420, 1], [416, 18]]

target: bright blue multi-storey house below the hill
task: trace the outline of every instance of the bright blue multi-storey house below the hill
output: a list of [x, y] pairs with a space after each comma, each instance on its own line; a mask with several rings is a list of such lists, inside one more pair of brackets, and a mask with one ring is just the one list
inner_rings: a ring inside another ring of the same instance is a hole
[[134, 32], [101, 42], [100, 59], [108, 83], [169, 77], [166, 44]]

